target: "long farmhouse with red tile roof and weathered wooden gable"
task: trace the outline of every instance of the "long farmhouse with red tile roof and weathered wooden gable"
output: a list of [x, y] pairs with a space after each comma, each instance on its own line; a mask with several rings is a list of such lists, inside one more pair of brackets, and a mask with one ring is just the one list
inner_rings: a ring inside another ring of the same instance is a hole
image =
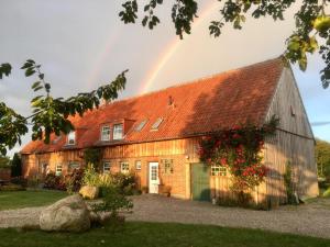
[[67, 173], [85, 166], [84, 150], [100, 148], [103, 172], [134, 172], [150, 193], [172, 188], [172, 197], [211, 200], [230, 197], [230, 175], [205, 166], [198, 156], [202, 136], [235, 124], [256, 126], [278, 116], [267, 137], [265, 182], [253, 191], [255, 202], [286, 201], [284, 173], [292, 166], [294, 191], [318, 194], [315, 139], [290, 67], [280, 58], [230, 70], [161, 91], [116, 101], [72, 122], [76, 131], [52, 136], [51, 144], [31, 142], [22, 150], [25, 177], [47, 169]]

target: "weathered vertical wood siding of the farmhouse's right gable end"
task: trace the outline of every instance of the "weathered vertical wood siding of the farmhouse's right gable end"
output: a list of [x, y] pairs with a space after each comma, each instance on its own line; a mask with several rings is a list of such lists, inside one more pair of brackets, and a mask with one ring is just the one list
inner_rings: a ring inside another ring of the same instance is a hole
[[315, 141], [308, 117], [290, 69], [284, 69], [266, 121], [279, 117], [276, 135], [266, 139], [265, 164], [271, 172], [266, 193], [273, 204], [286, 201], [283, 176], [287, 164], [293, 167], [293, 182], [299, 197], [318, 194]]

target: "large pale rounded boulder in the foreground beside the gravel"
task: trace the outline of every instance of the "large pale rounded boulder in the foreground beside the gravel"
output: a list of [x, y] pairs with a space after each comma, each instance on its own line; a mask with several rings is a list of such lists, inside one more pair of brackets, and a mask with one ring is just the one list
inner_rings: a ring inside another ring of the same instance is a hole
[[90, 228], [89, 210], [78, 194], [62, 199], [42, 211], [43, 231], [84, 232]]

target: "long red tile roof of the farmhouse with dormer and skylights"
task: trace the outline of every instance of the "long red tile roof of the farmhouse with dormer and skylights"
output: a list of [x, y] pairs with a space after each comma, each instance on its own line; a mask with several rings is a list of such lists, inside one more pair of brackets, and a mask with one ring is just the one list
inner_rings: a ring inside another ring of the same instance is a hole
[[[100, 142], [101, 124], [123, 120], [131, 120], [125, 124], [128, 124], [130, 130], [125, 128], [123, 141], [117, 144], [197, 136], [246, 122], [260, 125], [264, 122], [282, 70], [283, 63], [276, 58], [102, 105], [82, 117], [76, 115], [72, 119], [77, 131], [77, 145], [72, 148], [116, 144]], [[169, 97], [173, 105], [168, 105]], [[158, 117], [163, 117], [158, 131], [151, 131]], [[143, 120], [147, 120], [145, 126], [140, 132], [135, 131]], [[56, 138], [52, 136], [50, 145], [41, 141], [31, 142], [21, 153], [70, 148], [65, 146], [65, 136], [53, 142]]]

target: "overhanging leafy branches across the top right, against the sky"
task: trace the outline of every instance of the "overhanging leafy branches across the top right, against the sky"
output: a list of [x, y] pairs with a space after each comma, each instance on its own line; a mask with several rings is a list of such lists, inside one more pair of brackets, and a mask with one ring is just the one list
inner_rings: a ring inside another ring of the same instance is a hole
[[[213, 0], [219, 2], [218, 20], [211, 21], [209, 32], [213, 37], [221, 34], [226, 23], [233, 29], [242, 29], [248, 15], [254, 19], [272, 16], [274, 21], [284, 20], [284, 13], [296, 2], [300, 9], [295, 14], [296, 29], [286, 40], [284, 58], [293, 64], [298, 63], [301, 70], [307, 68], [307, 54], [319, 52], [326, 63], [320, 71], [323, 88], [330, 85], [330, 15], [326, 12], [330, 0]], [[176, 34], [183, 38], [190, 34], [191, 23], [198, 18], [198, 3], [195, 0], [174, 0], [172, 20]], [[155, 15], [155, 9], [163, 0], [148, 0], [143, 7], [142, 25], [154, 29], [161, 21]], [[138, 20], [138, 0], [124, 1], [119, 16], [124, 23], [135, 23]]]

